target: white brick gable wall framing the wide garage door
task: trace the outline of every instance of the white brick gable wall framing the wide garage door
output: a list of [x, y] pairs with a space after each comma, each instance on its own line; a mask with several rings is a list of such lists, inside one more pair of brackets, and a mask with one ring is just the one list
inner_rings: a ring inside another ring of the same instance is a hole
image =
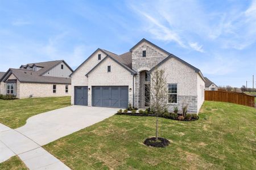
[[[108, 73], [108, 66], [111, 72]], [[129, 103], [133, 104], [133, 75], [113, 59], [106, 58], [88, 76], [88, 105], [92, 105], [92, 86], [129, 86]], [[128, 107], [128, 106], [127, 106]]]

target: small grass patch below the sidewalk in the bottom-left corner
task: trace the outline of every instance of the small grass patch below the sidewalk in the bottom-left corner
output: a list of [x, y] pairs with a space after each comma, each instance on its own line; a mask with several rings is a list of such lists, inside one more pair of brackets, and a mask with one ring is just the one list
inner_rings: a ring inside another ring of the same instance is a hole
[[13, 156], [10, 159], [0, 164], [1, 170], [26, 170], [26, 165], [19, 159], [18, 156]]

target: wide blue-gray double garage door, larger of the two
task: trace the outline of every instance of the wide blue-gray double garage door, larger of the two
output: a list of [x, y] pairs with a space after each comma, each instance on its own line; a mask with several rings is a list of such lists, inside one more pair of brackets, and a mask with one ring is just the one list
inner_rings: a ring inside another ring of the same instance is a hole
[[97, 107], [128, 107], [128, 86], [92, 87], [92, 105]]

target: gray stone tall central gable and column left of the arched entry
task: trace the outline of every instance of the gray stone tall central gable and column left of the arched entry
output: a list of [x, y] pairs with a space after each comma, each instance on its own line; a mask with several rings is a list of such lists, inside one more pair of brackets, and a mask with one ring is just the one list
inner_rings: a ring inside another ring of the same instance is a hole
[[[142, 51], [146, 50], [146, 57], [142, 57]], [[143, 84], [140, 83], [140, 75], [141, 71], [149, 71], [157, 65], [159, 62], [163, 61], [164, 58], [168, 57], [167, 53], [162, 52], [155, 46], [148, 44], [147, 42], [142, 42], [137, 48], [133, 49], [132, 52], [132, 62], [133, 62], [133, 70], [137, 71], [138, 75], [135, 76], [134, 84], [134, 107], [139, 108], [141, 106], [141, 101], [139, 100], [142, 95], [141, 86]]]

